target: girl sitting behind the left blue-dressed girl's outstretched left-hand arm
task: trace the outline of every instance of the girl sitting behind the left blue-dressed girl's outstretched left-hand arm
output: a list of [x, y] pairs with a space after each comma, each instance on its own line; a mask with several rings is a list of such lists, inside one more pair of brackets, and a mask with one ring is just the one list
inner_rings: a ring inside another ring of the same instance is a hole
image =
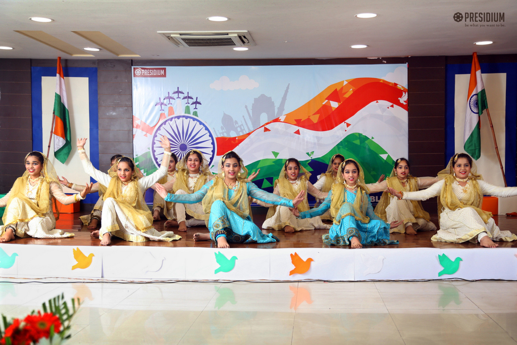
[[[208, 160], [196, 149], [185, 155], [178, 164], [178, 172], [176, 173], [176, 182], [174, 182], [174, 194], [192, 194], [201, 189], [208, 181], [214, 178], [208, 167]], [[200, 202], [184, 205], [180, 203], [174, 204], [177, 222], [168, 220], [165, 222], [166, 227], [177, 226], [179, 231], [187, 231], [187, 227], [196, 227], [205, 225], [205, 212]], [[189, 219], [186, 219], [187, 213]]]

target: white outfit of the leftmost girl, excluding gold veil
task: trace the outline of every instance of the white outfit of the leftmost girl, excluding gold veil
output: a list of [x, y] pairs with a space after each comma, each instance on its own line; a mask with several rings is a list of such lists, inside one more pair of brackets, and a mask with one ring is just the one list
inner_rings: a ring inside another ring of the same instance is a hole
[[[43, 183], [41, 180], [39, 184]], [[36, 193], [38, 191], [39, 184], [32, 186], [27, 179], [27, 187], [25, 188], [25, 196], [28, 199], [31, 199], [34, 203], [38, 203], [36, 200]], [[8, 215], [12, 215], [13, 218], [19, 218], [19, 215], [23, 215], [24, 219], [30, 219], [28, 221], [19, 221], [14, 226], [14, 234], [18, 237], [35, 237], [35, 238], [63, 238], [63, 237], [73, 237], [74, 234], [69, 232], [64, 232], [63, 230], [55, 229], [56, 227], [56, 219], [54, 218], [54, 213], [52, 212], [52, 196], [56, 198], [57, 201], [62, 203], [63, 205], [73, 204], [79, 200], [83, 200], [80, 194], [74, 194], [71, 196], [67, 196], [61, 186], [56, 182], [51, 182], [49, 186], [50, 195], [50, 207], [49, 211], [44, 214], [44, 217], [36, 216], [36, 213], [33, 211], [31, 207], [29, 207], [26, 203], [24, 203], [19, 198], [12, 199], [9, 207], [6, 208], [5, 213]], [[5, 207], [7, 205], [7, 201], [9, 200], [9, 196], [11, 191], [6, 194], [2, 199], [0, 199], [0, 207]], [[9, 228], [11, 228], [9, 226]], [[5, 226], [0, 226], [0, 234], [4, 233]]]

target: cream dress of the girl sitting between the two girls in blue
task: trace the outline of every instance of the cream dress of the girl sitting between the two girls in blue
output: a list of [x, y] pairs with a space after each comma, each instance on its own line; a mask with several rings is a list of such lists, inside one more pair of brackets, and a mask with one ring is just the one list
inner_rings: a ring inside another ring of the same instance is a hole
[[[315, 188], [315, 186], [312, 185], [312, 183], [308, 181], [306, 181], [306, 183], [307, 192], [309, 194], [318, 199], [326, 198], [328, 193], [319, 191]], [[291, 184], [293, 185], [293, 188], [296, 190], [300, 184], [300, 179], [297, 179], [295, 183]], [[273, 194], [277, 194], [278, 196], [280, 196], [280, 190], [278, 185], [275, 187], [275, 190], [273, 190]], [[305, 198], [307, 198], [307, 194]], [[260, 200], [254, 200], [254, 202], [265, 207], [272, 206]], [[298, 219], [293, 215], [291, 210], [285, 206], [277, 206], [275, 214], [272, 217], [266, 219], [262, 224], [262, 229], [284, 230], [284, 227], [286, 226], [291, 226], [294, 229], [294, 231], [330, 229], [330, 225], [324, 224], [320, 217]]]

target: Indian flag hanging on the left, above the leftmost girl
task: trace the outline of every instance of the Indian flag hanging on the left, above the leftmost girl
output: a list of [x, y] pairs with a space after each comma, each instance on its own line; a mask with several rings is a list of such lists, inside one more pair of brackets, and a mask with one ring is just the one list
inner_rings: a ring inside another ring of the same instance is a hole
[[54, 156], [58, 161], [65, 163], [70, 155], [72, 144], [70, 141], [70, 115], [66, 97], [65, 77], [61, 58], [57, 58], [56, 95], [54, 98]]

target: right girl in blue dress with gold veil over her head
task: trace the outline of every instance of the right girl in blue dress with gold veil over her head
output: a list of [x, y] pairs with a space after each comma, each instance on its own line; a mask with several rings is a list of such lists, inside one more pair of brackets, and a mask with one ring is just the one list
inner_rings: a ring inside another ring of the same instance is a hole
[[334, 218], [330, 232], [322, 236], [325, 245], [351, 245], [362, 248], [373, 245], [398, 244], [390, 241], [389, 229], [396, 228], [400, 221], [385, 223], [373, 213], [370, 203], [370, 190], [364, 184], [364, 174], [359, 163], [346, 159], [339, 166], [338, 182], [333, 184], [325, 201], [317, 208], [298, 213], [299, 218], [310, 218], [324, 214], [330, 209]]

